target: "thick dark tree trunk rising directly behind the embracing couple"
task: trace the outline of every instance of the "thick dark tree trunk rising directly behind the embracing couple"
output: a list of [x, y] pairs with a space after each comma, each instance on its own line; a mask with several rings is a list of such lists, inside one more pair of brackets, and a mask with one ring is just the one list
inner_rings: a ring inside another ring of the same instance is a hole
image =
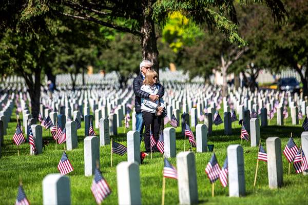
[[[149, 1], [150, 2], [150, 1]], [[159, 59], [157, 50], [157, 38], [155, 33], [155, 24], [151, 18], [152, 8], [151, 3], [143, 3], [143, 25], [141, 26], [141, 51], [142, 59], [147, 59], [152, 62], [152, 69], [159, 74]], [[150, 10], [150, 12], [148, 11]]]

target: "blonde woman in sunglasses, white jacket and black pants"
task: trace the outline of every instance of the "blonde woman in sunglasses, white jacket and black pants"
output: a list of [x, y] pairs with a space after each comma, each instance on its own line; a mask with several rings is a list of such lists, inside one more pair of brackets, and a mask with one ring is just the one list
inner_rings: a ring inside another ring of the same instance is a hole
[[[157, 72], [149, 70], [144, 77], [143, 86], [141, 90], [149, 93], [150, 95], [156, 95], [159, 91]], [[159, 128], [162, 120], [162, 113], [164, 111], [164, 100], [159, 98], [156, 101], [151, 101], [149, 98], [141, 98], [141, 111], [145, 126], [144, 145], [145, 152], [150, 152], [150, 129], [153, 133], [155, 140], [159, 138]], [[156, 147], [153, 147], [152, 151], [157, 151]]]

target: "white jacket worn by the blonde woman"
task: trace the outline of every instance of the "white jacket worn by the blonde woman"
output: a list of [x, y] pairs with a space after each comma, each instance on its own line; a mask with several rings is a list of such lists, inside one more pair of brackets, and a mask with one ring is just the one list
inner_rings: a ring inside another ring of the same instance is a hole
[[[159, 87], [157, 85], [143, 85], [140, 88], [142, 91], [145, 91], [149, 93], [150, 95], [156, 95], [159, 91]], [[159, 100], [156, 100], [153, 102], [150, 98], [141, 98], [141, 110], [142, 112], [151, 112], [155, 113], [157, 107], [164, 107], [164, 100], [163, 98], [159, 98]]]

